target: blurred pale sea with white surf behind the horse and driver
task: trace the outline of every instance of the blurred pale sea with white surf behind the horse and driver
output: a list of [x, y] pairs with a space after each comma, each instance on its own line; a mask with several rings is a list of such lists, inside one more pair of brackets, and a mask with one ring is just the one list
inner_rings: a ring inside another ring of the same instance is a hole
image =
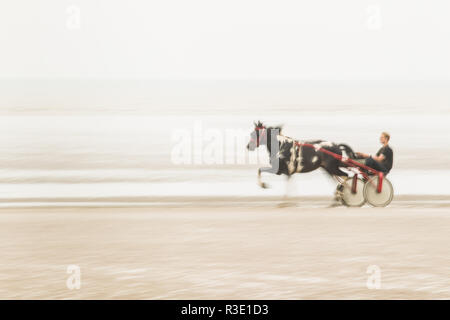
[[333, 89], [325, 99], [304, 82], [289, 82], [289, 90], [273, 81], [0, 83], [6, 89], [0, 111], [4, 207], [331, 196], [336, 182], [322, 170], [297, 174], [289, 184], [285, 177], [264, 174], [270, 188], [257, 185], [257, 169], [268, 165], [267, 151], [249, 152], [246, 145], [258, 120], [282, 125], [283, 134], [299, 140], [346, 143], [371, 154], [387, 131], [394, 150], [388, 178], [395, 194], [450, 195], [446, 101], [434, 106], [398, 97], [373, 102], [364, 99], [375, 96], [367, 88], [362, 98], [348, 99], [349, 86], [342, 87], [345, 94], [336, 96], [339, 90]]

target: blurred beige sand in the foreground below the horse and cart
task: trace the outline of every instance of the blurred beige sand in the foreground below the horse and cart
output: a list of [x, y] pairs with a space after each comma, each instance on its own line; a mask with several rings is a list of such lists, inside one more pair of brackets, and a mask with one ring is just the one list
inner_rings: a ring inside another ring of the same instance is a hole
[[[449, 299], [449, 234], [448, 206], [395, 202], [4, 208], [0, 298]], [[379, 289], [367, 287], [373, 265]]]

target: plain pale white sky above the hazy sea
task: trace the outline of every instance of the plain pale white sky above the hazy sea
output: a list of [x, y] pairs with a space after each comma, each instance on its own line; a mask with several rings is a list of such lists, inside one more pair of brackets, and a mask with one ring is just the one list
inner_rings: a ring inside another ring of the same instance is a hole
[[449, 80], [449, 9], [448, 0], [5, 1], [0, 77]]

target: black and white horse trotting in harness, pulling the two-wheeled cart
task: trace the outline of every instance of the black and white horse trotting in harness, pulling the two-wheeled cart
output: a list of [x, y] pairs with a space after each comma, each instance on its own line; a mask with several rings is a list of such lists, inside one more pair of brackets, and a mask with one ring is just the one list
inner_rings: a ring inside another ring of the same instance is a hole
[[[281, 126], [266, 127], [263, 123], [255, 123], [255, 129], [250, 134], [250, 142], [247, 149], [255, 150], [265, 145], [270, 156], [270, 167], [258, 169], [258, 184], [266, 188], [267, 184], [261, 181], [261, 173], [269, 172], [277, 175], [284, 174], [290, 178], [295, 173], [311, 172], [323, 168], [331, 176], [348, 176], [339, 169], [343, 163], [324, 152], [316, 150], [323, 148], [349, 158], [355, 158], [352, 149], [345, 144], [336, 144], [324, 140], [298, 141], [281, 134]], [[301, 146], [298, 144], [308, 143], [316, 148]]]

